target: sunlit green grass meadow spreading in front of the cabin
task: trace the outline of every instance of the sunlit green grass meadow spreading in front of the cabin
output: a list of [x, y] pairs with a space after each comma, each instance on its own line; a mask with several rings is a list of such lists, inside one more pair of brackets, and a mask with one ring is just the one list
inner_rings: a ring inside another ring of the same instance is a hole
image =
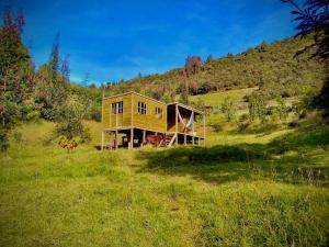
[[329, 127], [66, 154], [27, 124], [0, 159], [0, 246], [326, 246]]

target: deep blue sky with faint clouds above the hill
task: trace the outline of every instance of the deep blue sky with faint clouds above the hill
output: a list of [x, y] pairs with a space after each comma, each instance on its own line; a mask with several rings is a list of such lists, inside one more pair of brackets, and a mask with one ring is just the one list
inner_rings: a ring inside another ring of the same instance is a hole
[[13, 0], [23, 7], [24, 43], [47, 61], [56, 33], [70, 55], [71, 81], [129, 79], [240, 53], [292, 36], [291, 8], [280, 0]]

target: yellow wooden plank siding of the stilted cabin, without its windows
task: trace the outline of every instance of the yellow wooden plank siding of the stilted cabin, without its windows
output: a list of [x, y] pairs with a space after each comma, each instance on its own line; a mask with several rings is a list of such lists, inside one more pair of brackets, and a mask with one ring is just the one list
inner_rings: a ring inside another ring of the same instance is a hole
[[[112, 103], [123, 102], [123, 112], [118, 114], [112, 113]], [[144, 111], [138, 112], [138, 102], [146, 104], [146, 114]], [[156, 114], [156, 108], [162, 110], [162, 117]], [[192, 109], [180, 105], [180, 112], [184, 122], [188, 122]], [[194, 109], [193, 109], [194, 110]], [[196, 114], [201, 114], [197, 111]], [[102, 123], [103, 128], [123, 130], [123, 128], [141, 128], [159, 133], [174, 133], [175, 128], [175, 104], [167, 105], [160, 101], [144, 97], [139, 93], [129, 92], [120, 96], [109, 97], [103, 99], [102, 105]], [[194, 121], [194, 134], [201, 136], [203, 127], [200, 121]], [[193, 128], [184, 130], [183, 124], [178, 121], [178, 132], [193, 135]]]

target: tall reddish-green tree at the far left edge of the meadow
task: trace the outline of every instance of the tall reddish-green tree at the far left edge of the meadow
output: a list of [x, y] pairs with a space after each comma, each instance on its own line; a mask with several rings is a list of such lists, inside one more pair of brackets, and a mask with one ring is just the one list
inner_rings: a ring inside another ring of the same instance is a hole
[[34, 86], [31, 57], [21, 37], [24, 24], [22, 10], [14, 16], [11, 8], [5, 7], [0, 26], [1, 142], [8, 139], [8, 131], [22, 119]]

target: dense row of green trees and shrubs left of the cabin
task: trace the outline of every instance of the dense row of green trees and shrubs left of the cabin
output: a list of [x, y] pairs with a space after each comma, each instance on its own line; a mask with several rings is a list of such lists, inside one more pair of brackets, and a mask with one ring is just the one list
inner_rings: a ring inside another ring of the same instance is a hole
[[24, 121], [39, 117], [57, 123], [55, 136], [88, 141], [81, 120], [101, 119], [101, 90], [70, 83], [69, 56], [60, 56], [59, 34], [49, 59], [35, 68], [29, 48], [22, 42], [25, 19], [10, 7], [0, 26], [0, 142], [9, 147], [9, 132]]

